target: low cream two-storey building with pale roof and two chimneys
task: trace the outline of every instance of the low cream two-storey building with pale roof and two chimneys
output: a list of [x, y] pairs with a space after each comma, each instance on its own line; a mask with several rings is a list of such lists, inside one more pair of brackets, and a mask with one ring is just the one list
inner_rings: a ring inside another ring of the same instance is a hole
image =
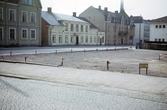
[[[85, 20], [85, 21], [84, 21]], [[42, 45], [104, 45], [105, 33], [84, 18], [42, 11]]]

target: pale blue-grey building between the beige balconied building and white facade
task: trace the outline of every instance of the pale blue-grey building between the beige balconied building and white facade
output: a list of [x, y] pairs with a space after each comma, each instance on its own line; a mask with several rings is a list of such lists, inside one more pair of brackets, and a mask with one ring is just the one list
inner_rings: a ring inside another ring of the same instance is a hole
[[144, 20], [141, 16], [133, 16], [135, 24], [135, 36], [133, 38], [133, 45], [138, 45], [139, 42], [143, 44], [145, 41], [149, 41], [150, 38], [150, 24], [147, 20]]

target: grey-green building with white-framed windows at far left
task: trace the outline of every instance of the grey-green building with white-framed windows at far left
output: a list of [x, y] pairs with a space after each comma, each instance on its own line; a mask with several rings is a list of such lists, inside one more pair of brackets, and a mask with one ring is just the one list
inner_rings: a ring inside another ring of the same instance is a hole
[[40, 0], [0, 0], [0, 46], [41, 45]]

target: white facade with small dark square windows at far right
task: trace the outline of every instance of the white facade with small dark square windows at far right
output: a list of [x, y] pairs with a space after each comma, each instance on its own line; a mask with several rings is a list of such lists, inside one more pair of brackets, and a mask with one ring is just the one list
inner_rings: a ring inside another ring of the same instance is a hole
[[167, 16], [150, 22], [150, 41], [167, 42]]

